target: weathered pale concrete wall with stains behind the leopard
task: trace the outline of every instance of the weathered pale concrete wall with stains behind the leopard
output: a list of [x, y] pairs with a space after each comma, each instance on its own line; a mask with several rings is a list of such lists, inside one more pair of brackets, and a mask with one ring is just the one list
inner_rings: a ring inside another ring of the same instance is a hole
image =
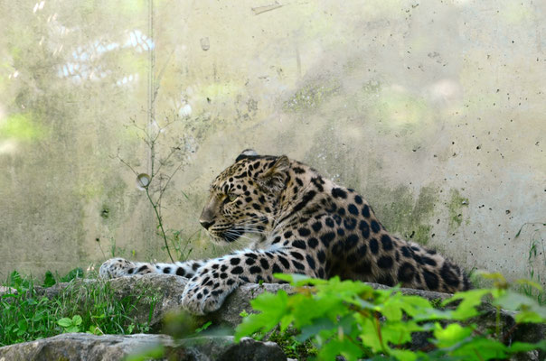
[[225, 252], [197, 218], [253, 147], [361, 191], [467, 269], [544, 274], [545, 3], [75, 4], [0, 0], [0, 273], [165, 260], [118, 155], [149, 173], [142, 136], [173, 122], [163, 216], [192, 256]]

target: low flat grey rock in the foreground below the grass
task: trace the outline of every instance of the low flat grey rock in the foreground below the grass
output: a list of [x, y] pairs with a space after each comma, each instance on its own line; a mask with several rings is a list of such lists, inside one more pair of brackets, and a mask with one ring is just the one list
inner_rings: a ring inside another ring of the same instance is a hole
[[165, 335], [106, 335], [67, 333], [33, 342], [0, 347], [0, 361], [121, 360], [127, 356], [157, 356], [184, 361], [277, 361], [287, 356], [273, 342], [230, 336], [186, 338], [175, 341]]

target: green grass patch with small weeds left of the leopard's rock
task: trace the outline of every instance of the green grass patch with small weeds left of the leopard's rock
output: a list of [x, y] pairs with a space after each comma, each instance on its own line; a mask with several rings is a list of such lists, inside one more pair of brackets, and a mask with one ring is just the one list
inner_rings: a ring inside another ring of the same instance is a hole
[[149, 319], [137, 322], [131, 317], [146, 290], [120, 300], [108, 282], [82, 282], [79, 280], [82, 274], [79, 268], [63, 277], [46, 273], [44, 286], [70, 281], [51, 299], [43, 295], [40, 287], [34, 286], [32, 278], [17, 272], [10, 274], [4, 285], [12, 291], [3, 293], [0, 298], [0, 347], [62, 332], [102, 335], [149, 330]]

